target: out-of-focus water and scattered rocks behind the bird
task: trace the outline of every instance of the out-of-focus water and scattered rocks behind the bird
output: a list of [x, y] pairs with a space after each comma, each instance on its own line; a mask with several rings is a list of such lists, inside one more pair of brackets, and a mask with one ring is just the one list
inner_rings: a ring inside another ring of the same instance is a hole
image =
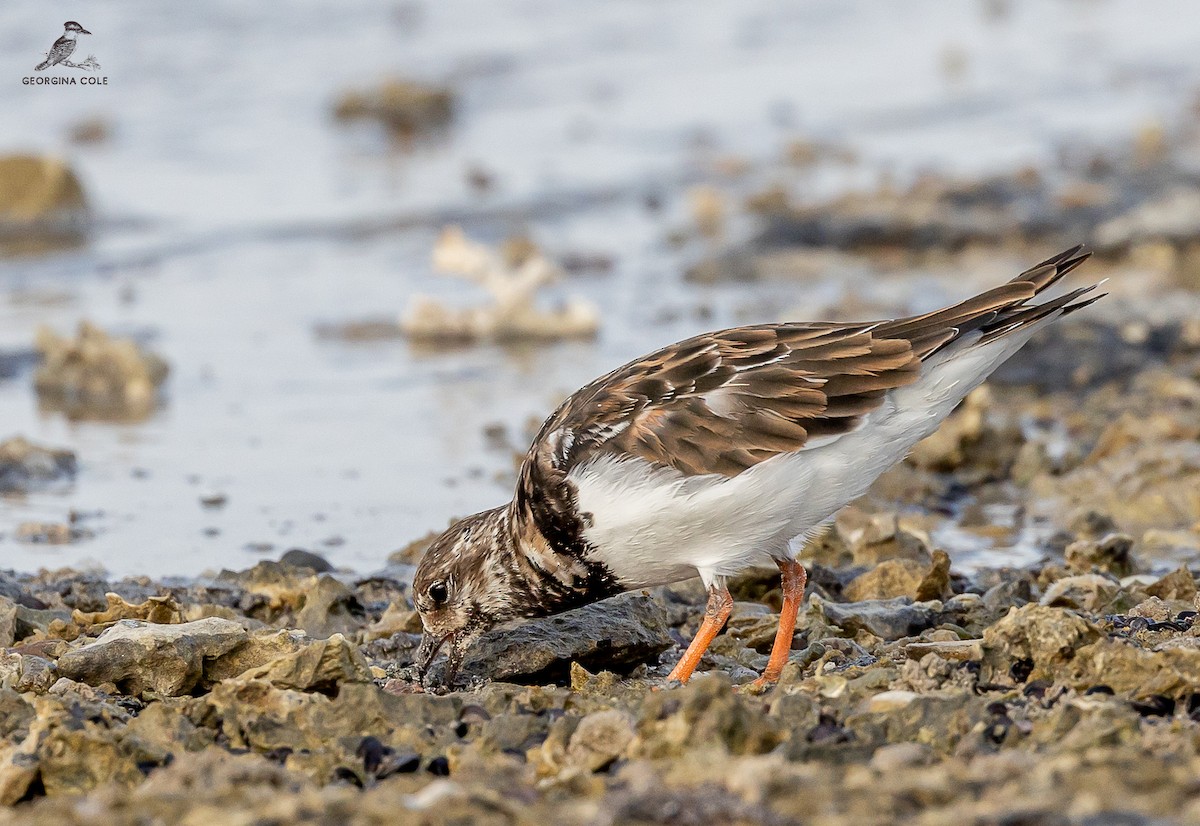
[[[35, 72], [67, 19], [100, 68]], [[928, 310], [1079, 241], [1098, 312], [1186, 324], [1196, 19], [5, 4], [0, 567], [370, 570], [505, 501], [540, 419], [630, 358]]]

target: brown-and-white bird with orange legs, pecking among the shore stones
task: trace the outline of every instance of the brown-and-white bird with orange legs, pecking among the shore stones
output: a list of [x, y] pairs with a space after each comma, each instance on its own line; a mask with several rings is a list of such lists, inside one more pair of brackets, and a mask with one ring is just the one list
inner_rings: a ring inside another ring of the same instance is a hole
[[[526, 454], [512, 499], [451, 525], [413, 579], [415, 680], [448, 690], [485, 632], [698, 575], [703, 621], [667, 681], [688, 682], [733, 607], [727, 579], [780, 570], [767, 666], [778, 682], [806, 573], [803, 540], [932, 433], [1045, 324], [1103, 298], [1046, 298], [1075, 246], [959, 304], [863, 323], [707, 333], [568, 397]], [[440, 684], [431, 664], [446, 648]]]

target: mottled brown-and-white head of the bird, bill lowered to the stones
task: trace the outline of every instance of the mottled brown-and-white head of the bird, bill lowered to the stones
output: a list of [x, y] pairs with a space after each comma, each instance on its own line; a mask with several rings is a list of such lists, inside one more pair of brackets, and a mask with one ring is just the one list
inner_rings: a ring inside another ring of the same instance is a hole
[[413, 579], [413, 603], [425, 628], [416, 651], [421, 678], [448, 646], [449, 684], [470, 644], [517, 616], [509, 587], [512, 546], [506, 509], [496, 508], [456, 522], [421, 557]]

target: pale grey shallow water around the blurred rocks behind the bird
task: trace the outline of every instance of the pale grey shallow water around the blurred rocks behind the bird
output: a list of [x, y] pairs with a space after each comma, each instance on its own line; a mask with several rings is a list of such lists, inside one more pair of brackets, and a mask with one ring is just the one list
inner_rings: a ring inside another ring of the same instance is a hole
[[[686, 186], [714, 178], [721, 158], [749, 162], [725, 182], [733, 191], [782, 176], [817, 196], [883, 173], [977, 173], [1045, 161], [1066, 142], [1104, 145], [1172, 116], [1200, 80], [1198, 32], [1181, 24], [1190, 12], [442, 0], [281, 14], [127, 2], [71, 12], [96, 32], [86, 49], [109, 77], [88, 89], [20, 85], [62, 13], [10, 4], [0, 151], [68, 155], [100, 226], [82, 250], [0, 261], [0, 349], [28, 347], [37, 324], [66, 331], [86, 317], [148, 336], [173, 375], [162, 411], [138, 425], [67, 423], [38, 412], [28, 375], [0, 381], [0, 437], [70, 447], [82, 461], [65, 493], [0, 501], [0, 564], [191, 574], [304, 546], [377, 567], [506, 498], [511, 451], [490, 447], [485, 426], [504, 425], [521, 449], [530, 418], [625, 359], [836, 298], [841, 273], [684, 283], [706, 249], [665, 239], [685, 222]], [[340, 90], [388, 73], [461, 94], [440, 142], [401, 150], [332, 122]], [[113, 139], [68, 145], [67, 127], [94, 114]], [[796, 137], [859, 160], [787, 172], [778, 158]], [[470, 191], [472, 164], [494, 174], [494, 192]], [[661, 211], [644, 206], [649, 193]], [[484, 240], [528, 232], [551, 252], [612, 256], [611, 273], [559, 288], [599, 305], [599, 340], [421, 352], [316, 335], [320, 323], [397, 313], [414, 292], [478, 300], [431, 274], [448, 220]], [[931, 283], [905, 282], [899, 301], [887, 285], [856, 289], [907, 305], [899, 311], [942, 298]], [[203, 508], [210, 492], [226, 507]], [[71, 510], [92, 538], [11, 539], [22, 521]], [[980, 559], [995, 549], [960, 550]]]

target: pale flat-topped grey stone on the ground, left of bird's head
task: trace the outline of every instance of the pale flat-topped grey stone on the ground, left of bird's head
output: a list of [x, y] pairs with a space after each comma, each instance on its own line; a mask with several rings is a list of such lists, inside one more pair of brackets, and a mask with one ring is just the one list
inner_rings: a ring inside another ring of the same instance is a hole
[[127, 694], [179, 696], [200, 681], [205, 660], [246, 639], [241, 624], [220, 617], [174, 626], [122, 620], [60, 657], [59, 672], [89, 686], [113, 683]]

